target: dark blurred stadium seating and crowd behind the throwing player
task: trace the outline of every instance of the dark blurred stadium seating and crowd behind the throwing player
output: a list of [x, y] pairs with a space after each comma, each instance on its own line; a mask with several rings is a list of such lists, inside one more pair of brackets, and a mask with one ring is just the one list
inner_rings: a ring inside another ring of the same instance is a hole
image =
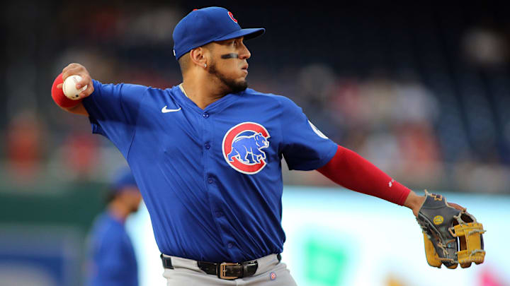
[[[171, 32], [184, 13], [207, 2], [98, 3], [81, 9], [74, 1], [33, 1], [4, 10], [2, 174], [26, 166], [35, 178], [58, 181], [65, 171], [101, 180], [108, 162], [118, 163], [98, 156], [98, 170], [87, 169], [91, 162], [62, 162], [67, 143], [77, 142], [68, 137], [89, 133], [84, 120], [48, 97], [52, 78], [70, 62], [103, 82], [180, 83]], [[267, 28], [248, 42], [251, 86], [292, 98], [329, 138], [412, 189], [510, 192], [508, 5], [223, 5], [243, 26]], [[37, 121], [33, 133], [23, 131], [32, 138], [11, 136], [26, 113]], [[20, 140], [47, 143], [30, 148], [30, 159], [16, 151], [28, 150]], [[95, 142], [74, 148], [113, 148], [103, 138], [87, 140]], [[286, 184], [331, 184], [314, 172], [284, 175]]]

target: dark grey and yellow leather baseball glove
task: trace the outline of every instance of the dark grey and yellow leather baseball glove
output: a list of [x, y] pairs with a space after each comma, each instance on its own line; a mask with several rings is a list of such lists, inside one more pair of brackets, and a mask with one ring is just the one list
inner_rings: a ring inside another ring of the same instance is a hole
[[484, 261], [481, 223], [466, 209], [458, 210], [446, 198], [425, 190], [426, 198], [416, 220], [424, 234], [425, 255], [430, 266], [455, 269]]

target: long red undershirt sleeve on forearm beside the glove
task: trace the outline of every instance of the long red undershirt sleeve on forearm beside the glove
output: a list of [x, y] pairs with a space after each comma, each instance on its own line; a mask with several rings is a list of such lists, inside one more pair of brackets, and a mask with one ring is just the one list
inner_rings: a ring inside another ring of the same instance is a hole
[[317, 171], [347, 189], [376, 196], [397, 205], [403, 205], [411, 191], [368, 160], [340, 145], [334, 157]]

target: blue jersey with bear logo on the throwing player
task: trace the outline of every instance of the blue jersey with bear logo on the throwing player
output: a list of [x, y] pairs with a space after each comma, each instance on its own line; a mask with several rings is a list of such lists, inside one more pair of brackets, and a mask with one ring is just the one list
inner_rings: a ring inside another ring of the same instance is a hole
[[163, 254], [240, 262], [280, 253], [282, 157], [312, 170], [336, 153], [280, 95], [246, 89], [200, 109], [181, 85], [94, 89], [83, 101], [92, 130], [128, 161]]

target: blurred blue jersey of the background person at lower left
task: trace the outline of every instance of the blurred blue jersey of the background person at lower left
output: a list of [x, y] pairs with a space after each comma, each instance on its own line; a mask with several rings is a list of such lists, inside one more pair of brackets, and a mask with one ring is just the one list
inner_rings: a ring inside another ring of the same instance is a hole
[[138, 266], [124, 222], [108, 211], [94, 221], [89, 234], [86, 285], [137, 286]]

